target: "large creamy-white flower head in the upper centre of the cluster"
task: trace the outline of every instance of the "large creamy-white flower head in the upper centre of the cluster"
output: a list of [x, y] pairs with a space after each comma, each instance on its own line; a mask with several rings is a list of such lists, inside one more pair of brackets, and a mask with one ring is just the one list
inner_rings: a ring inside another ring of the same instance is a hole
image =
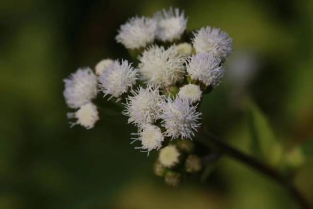
[[139, 57], [139, 61], [140, 78], [161, 88], [182, 80], [185, 72], [185, 55], [180, 54], [175, 46], [168, 49], [150, 46]]

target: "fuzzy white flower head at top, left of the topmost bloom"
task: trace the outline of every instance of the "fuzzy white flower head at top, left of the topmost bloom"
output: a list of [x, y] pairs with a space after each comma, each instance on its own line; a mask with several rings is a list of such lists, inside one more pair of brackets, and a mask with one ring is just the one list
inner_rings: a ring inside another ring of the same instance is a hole
[[156, 20], [146, 17], [133, 17], [121, 25], [117, 43], [123, 44], [128, 49], [146, 47], [155, 40]]

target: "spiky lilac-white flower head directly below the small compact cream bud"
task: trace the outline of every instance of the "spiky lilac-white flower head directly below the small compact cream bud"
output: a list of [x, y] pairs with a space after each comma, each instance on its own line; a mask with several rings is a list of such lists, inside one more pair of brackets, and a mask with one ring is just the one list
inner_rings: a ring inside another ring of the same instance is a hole
[[170, 97], [162, 107], [162, 126], [166, 129], [164, 136], [177, 139], [191, 139], [194, 136], [194, 131], [200, 127], [199, 122], [201, 113], [198, 113], [196, 106], [189, 105], [188, 100], [182, 99], [179, 96], [174, 100]]

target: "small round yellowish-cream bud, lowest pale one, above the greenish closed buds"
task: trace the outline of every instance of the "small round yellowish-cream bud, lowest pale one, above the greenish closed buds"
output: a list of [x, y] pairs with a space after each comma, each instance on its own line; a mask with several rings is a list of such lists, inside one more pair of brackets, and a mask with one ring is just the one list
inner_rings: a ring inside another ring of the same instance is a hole
[[175, 145], [168, 145], [160, 149], [158, 154], [158, 160], [165, 167], [173, 167], [179, 163], [179, 151]]

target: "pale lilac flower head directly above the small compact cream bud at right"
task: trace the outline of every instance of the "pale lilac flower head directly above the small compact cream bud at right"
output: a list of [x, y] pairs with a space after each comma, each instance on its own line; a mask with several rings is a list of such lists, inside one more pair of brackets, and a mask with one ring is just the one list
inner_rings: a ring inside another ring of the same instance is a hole
[[210, 53], [200, 53], [188, 58], [186, 69], [193, 80], [199, 80], [206, 86], [216, 87], [221, 83], [224, 68], [221, 59]]

